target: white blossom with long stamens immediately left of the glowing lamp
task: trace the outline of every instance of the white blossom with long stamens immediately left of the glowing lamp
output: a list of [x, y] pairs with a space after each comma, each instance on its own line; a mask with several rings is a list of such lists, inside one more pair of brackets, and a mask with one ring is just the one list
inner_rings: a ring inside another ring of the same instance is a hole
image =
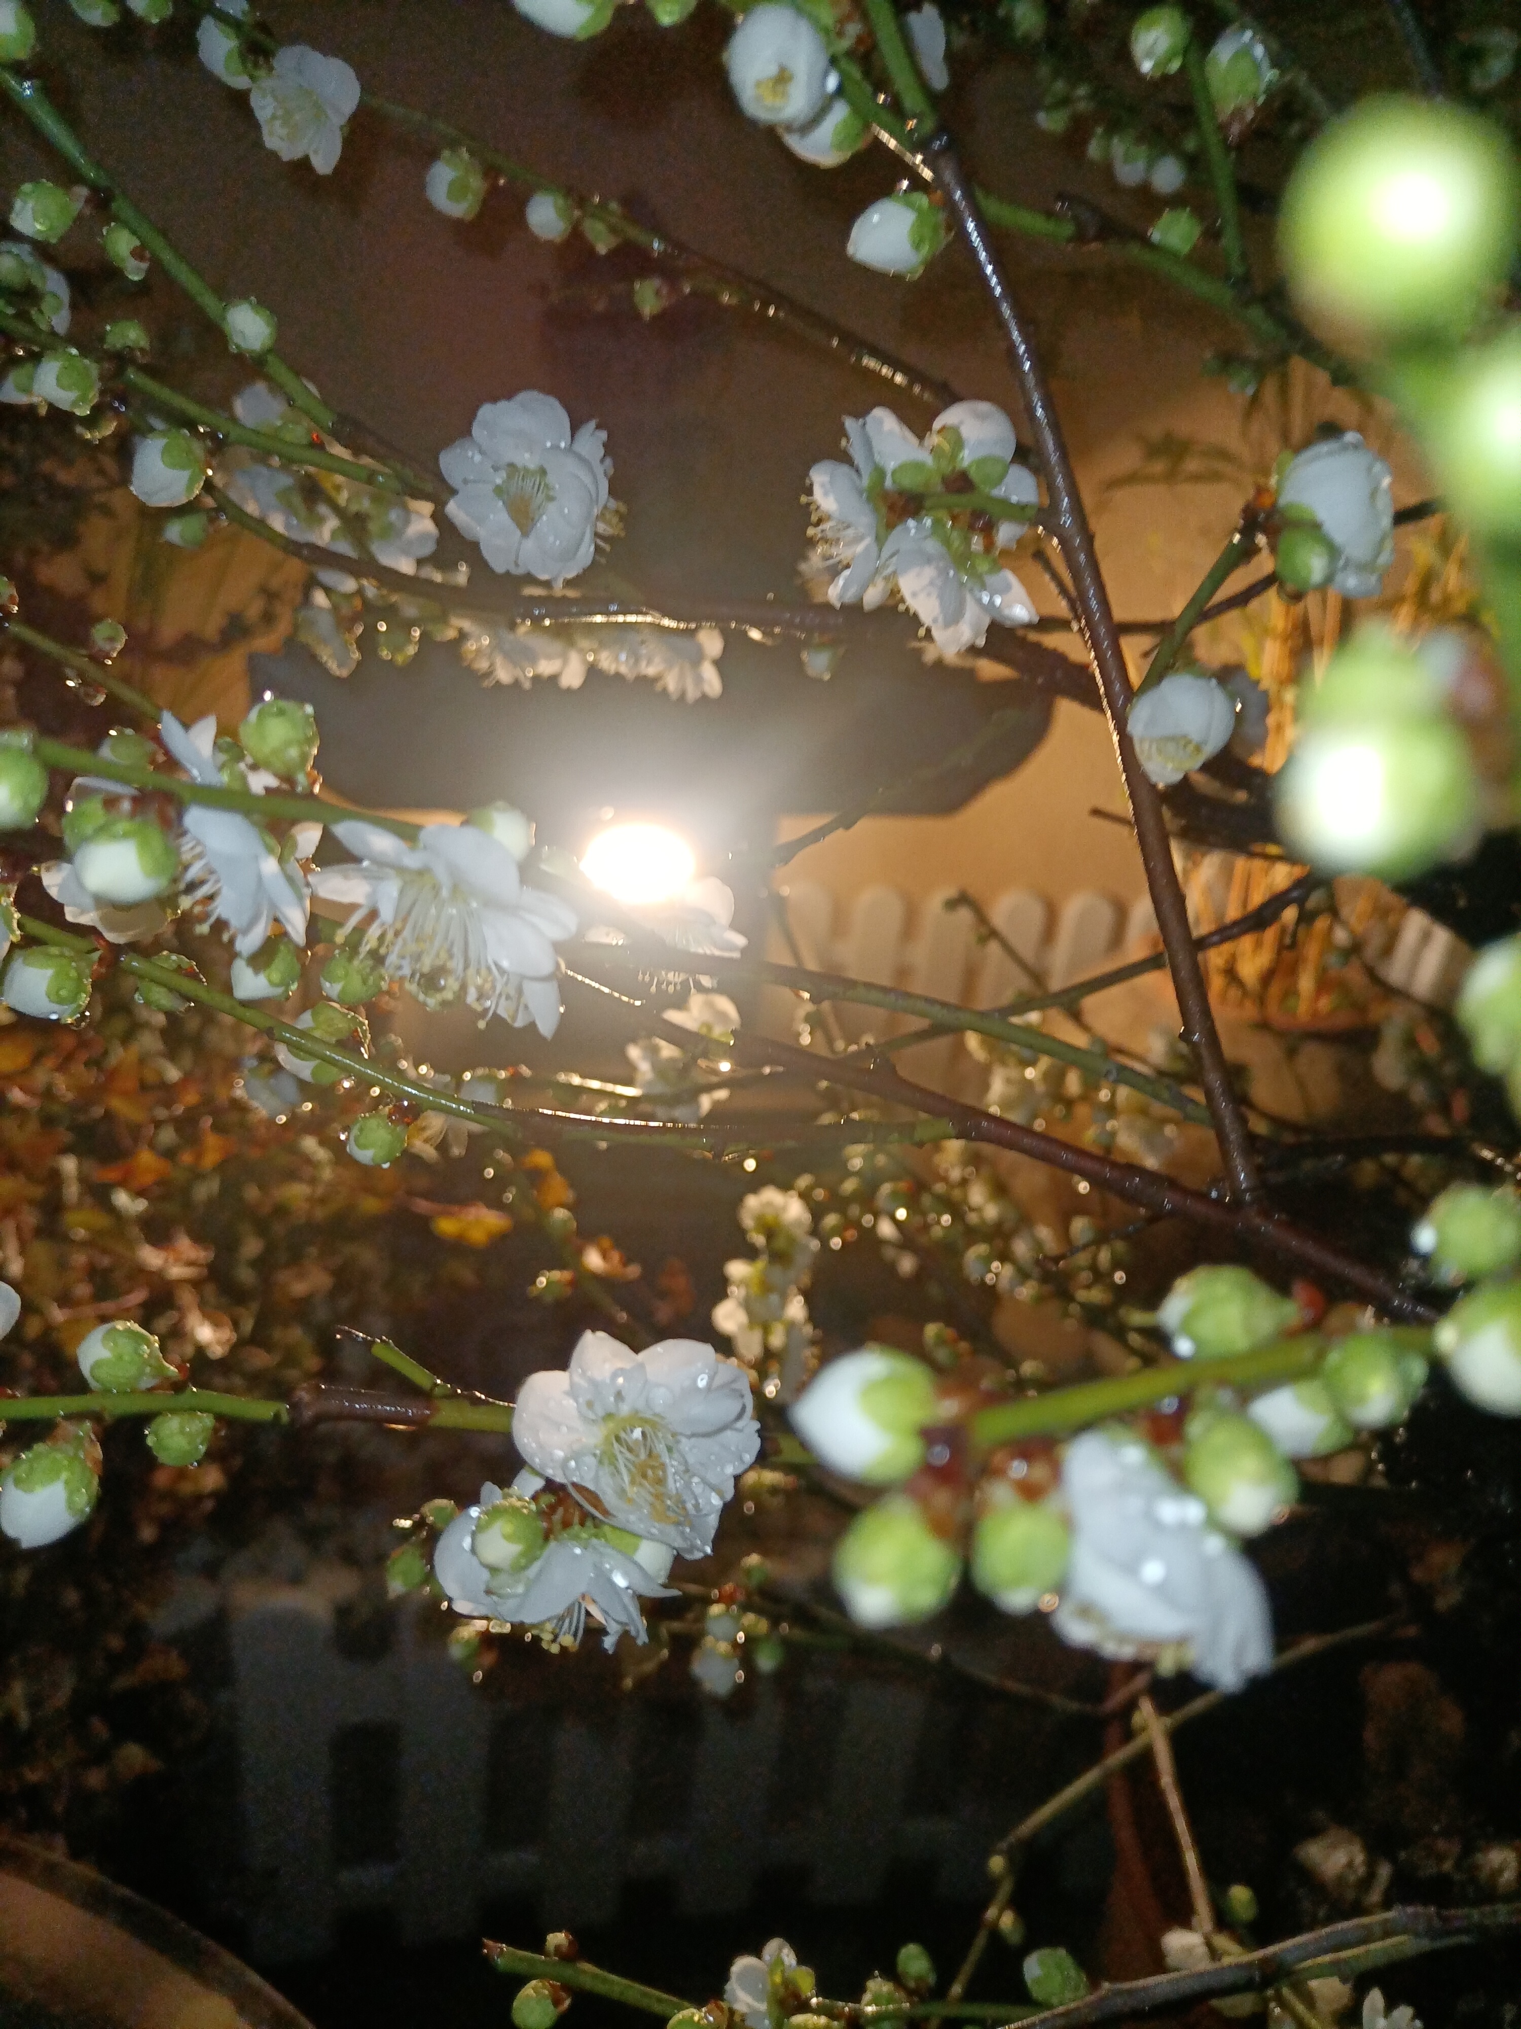
[[312, 893], [369, 917], [365, 948], [424, 1006], [464, 1000], [554, 1035], [560, 1023], [556, 943], [576, 931], [574, 909], [525, 887], [513, 854], [470, 824], [424, 824], [414, 846], [377, 824], [333, 828], [355, 854], [312, 874]]

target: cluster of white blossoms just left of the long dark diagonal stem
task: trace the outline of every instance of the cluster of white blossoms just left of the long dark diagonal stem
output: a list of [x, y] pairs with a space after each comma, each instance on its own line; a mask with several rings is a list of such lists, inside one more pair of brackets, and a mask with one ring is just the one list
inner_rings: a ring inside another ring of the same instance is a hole
[[846, 416], [846, 442], [852, 465], [823, 459], [809, 473], [813, 564], [831, 574], [829, 605], [870, 611], [896, 590], [947, 655], [982, 647], [994, 619], [1004, 627], [1034, 619], [1028, 592], [998, 562], [998, 552], [1018, 542], [1024, 521], [971, 532], [953, 513], [892, 519], [913, 505], [913, 495], [945, 497], [943, 485], [955, 475], [1010, 507], [1038, 501], [1034, 475], [1014, 461], [1014, 426], [1000, 408], [955, 402], [925, 440], [890, 408], [874, 408], [868, 416]]

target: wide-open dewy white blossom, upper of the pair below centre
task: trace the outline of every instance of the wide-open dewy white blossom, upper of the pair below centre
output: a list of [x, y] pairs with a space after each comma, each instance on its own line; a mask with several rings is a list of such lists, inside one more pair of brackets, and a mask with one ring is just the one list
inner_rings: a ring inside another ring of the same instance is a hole
[[706, 1556], [760, 1426], [744, 1368], [712, 1345], [661, 1339], [633, 1353], [584, 1331], [566, 1372], [519, 1388], [513, 1443], [621, 1528]]

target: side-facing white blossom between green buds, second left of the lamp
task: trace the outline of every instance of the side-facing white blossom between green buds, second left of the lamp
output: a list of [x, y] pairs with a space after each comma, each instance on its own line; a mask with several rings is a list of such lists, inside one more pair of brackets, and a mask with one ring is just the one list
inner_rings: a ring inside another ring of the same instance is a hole
[[[164, 712], [158, 734], [191, 781], [221, 787], [215, 714], [183, 726]], [[180, 818], [185, 901], [227, 925], [239, 958], [258, 952], [278, 919], [292, 943], [306, 943], [306, 887], [282, 866], [270, 840], [237, 810], [187, 803]]]

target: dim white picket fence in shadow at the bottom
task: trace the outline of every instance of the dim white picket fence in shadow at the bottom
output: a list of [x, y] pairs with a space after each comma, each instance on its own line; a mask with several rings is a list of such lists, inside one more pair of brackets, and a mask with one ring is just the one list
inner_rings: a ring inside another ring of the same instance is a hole
[[395, 1609], [389, 1654], [355, 1662], [331, 1601], [316, 1572], [233, 1587], [225, 1605], [233, 1901], [256, 1962], [324, 1954], [345, 1911], [387, 1911], [424, 1944], [479, 1934], [501, 1901], [533, 1901], [546, 1926], [600, 1923], [631, 1881], [667, 1883], [683, 1915], [746, 1907], [775, 1869], [821, 1907], [870, 1901], [898, 1861], [925, 1895], [984, 1883], [1004, 1828], [986, 1798], [915, 1806], [921, 1733], [953, 1721], [913, 1682], [809, 1658], [732, 1706], [582, 1710], [544, 1672], [525, 1676], [544, 1702], [493, 1700], [422, 1639], [428, 1609]]

